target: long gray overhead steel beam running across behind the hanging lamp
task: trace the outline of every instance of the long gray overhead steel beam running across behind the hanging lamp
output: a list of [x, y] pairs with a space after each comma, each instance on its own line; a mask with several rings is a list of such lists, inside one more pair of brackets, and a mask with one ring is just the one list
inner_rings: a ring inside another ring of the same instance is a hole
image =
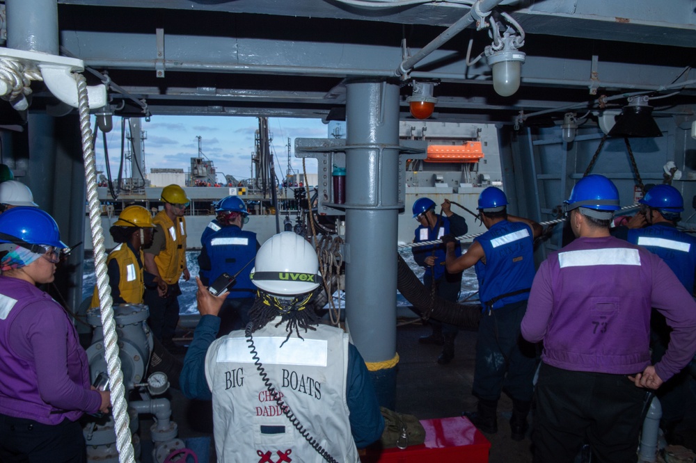
[[[535, 40], [528, 38], [529, 41]], [[301, 75], [316, 77], [391, 77], [402, 61], [400, 44], [393, 47], [338, 42], [296, 42], [260, 38], [166, 35], [167, 59], [157, 60], [156, 35], [63, 31], [61, 43], [70, 54], [97, 69], [157, 71], [157, 63], [168, 72], [209, 72], [213, 74]], [[147, 44], [151, 44], [148, 47]], [[482, 45], [480, 46], [482, 48]], [[227, 50], [221, 54], [220, 49]], [[592, 79], [592, 56], [586, 59], [541, 56], [528, 51], [522, 67], [522, 85], [571, 88], [657, 90], [671, 83], [684, 65], [626, 63], [623, 56], [599, 56], [597, 78]], [[612, 59], [616, 59], [612, 61]], [[491, 69], [480, 60], [467, 67], [457, 49], [438, 49], [420, 62], [414, 79], [446, 82], [490, 83]]]

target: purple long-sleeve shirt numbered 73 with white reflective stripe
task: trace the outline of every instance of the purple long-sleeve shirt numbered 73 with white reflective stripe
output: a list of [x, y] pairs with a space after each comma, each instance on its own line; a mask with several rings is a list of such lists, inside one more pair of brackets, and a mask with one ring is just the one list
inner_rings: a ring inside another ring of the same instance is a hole
[[650, 312], [672, 327], [663, 381], [696, 352], [696, 302], [656, 254], [613, 237], [578, 238], [541, 263], [521, 330], [571, 371], [634, 374], [650, 364]]

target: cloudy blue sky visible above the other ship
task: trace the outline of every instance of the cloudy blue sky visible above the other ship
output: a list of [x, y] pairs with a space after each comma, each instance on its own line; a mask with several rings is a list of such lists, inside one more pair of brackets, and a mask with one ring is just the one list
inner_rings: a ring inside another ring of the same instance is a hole
[[[141, 129], [147, 133], [145, 140], [145, 169], [182, 168], [187, 172], [190, 158], [201, 150], [214, 162], [219, 174], [231, 174], [237, 179], [251, 177], [251, 154], [254, 151], [255, 131], [258, 119], [235, 116], [152, 116], [150, 122], [142, 120]], [[128, 129], [126, 130], [128, 132]], [[319, 119], [269, 118], [271, 151], [276, 154], [276, 175], [283, 178], [287, 170], [287, 139], [291, 143], [291, 163], [302, 171], [302, 160], [294, 157], [295, 138], [327, 138], [329, 126]], [[95, 143], [97, 170], [106, 165], [102, 133]], [[118, 176], [121, 152], [121, 118], [113, 117], [113, 130], [106, 134], [109, 165], [113, 178]], [[130, 171], [130, 163], [125, 163]], [[316, 172], [316, 161], [307, 160], [307, 171]], [[125, 177], [125, 175], [124, 175]], [[220, 178], [222, 180], [222, 178]]]

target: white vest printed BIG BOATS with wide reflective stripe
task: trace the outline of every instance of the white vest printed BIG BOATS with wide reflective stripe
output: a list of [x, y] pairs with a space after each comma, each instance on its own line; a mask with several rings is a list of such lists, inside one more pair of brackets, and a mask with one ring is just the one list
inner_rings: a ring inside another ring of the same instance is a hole
[[[346, 401], [348, 335], [318, 325], [286, 337], [276, 318], [253, 334], [269, 380], [297, 422], [340, 462], [358, 462]], [[324, 462], [283, 414], [254, 364], [242, 330], [212, 343], [205, 378], [213, 396], [218, 462]], [[287, 460], [290, 459], [290, 460]]]

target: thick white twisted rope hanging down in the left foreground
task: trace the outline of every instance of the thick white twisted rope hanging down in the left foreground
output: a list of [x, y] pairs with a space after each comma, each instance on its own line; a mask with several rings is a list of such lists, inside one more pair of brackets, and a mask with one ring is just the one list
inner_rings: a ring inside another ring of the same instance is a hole
[[113, 301], [111, 287], [106, 275], [106, 254], [104, 253], [104, 231], [102, 230], [101, 207], [97, 197], [97, 173], [92, 129], [90, 127], [87, 83], [82, 74], [74, 74], [77, 81], [77, 99], [79, 102], [80, 132], [82, 136], [82, 154], [85, 163], [85, 181], [89, 204], [90, 229], [94, 249], [95, 273], [97, 275], [97, 293], [102, 314], [102, 331], [104, 332], [104, 350], [106, 365], [109, 368], [109, 389], [111, 389], [111, 407], [116, 421], [116, 448], [118, 461], [135, 463], [131, 442], [130, 419], [127, 412], [123, 387], [121, 360], [118, 358], [118, 336], [116, 323], [113, 321]]

